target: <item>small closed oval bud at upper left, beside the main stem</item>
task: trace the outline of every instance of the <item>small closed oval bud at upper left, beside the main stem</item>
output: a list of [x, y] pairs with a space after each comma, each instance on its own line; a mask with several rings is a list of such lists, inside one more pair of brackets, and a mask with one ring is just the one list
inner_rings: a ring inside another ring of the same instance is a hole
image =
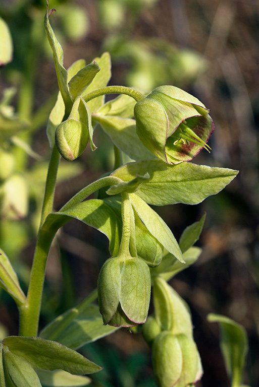
[[76, 119], [67, 119], [56, 129], [55, 142], [64, 159], [73, 161], [85, 150], [89, 140], [87, 126]]

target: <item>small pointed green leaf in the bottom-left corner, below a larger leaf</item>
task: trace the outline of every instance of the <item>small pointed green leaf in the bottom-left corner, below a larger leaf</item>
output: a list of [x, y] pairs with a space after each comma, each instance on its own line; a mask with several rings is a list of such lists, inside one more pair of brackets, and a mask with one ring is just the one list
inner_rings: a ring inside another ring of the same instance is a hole
[[39, 378], [31, 364], [23, 357], [12, 353], [5, 345], [3, 352], [7, 380], [10, 378], [13, 385], [17, 387], [41, 387]]

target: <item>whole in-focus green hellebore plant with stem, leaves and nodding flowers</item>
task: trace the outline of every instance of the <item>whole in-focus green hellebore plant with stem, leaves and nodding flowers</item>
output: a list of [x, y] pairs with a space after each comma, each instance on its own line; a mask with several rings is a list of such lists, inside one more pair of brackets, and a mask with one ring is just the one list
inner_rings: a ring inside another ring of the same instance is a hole
[[[20, 331], [19, 336], [6, 337], [0, 344], [0, 384], [54, 386], [63, 385], [62, 380], [68, 378], [70, 384], [66, 385], [85, 385], [89, 379], [80, 375], [101, 368], [76, 349], [118, 327], [142, 326], [142, 334], [152, 349], [158, 386], [193, 385], [201, 377], [202, 367], [193, 341], [191, 316], [167, 281], [197, 260], [201, 250], [193, 245], [199, 238], [204, 216], [187, 227], [178, 243], [149, 205], [200, 203], [222, 190], [238, 172], [187, 162], [201, 149], [210, 150], [207, 142], [214, 130], [209, 110], [190, 94], [173, 86], [158, 87], [148, 95], [128, 87], [107, 86], [111, 77], [107, 52], [88, 65], [77, 60], [66, 70], [62, 47], [49, 24], [52, 12], [47, 10], [44, 25], [59, 85], [47, 123], [53, 151], [26, 294], [7, 255], [1, 251], [0, 283], [19, 308]], [[9, 51], [5, 48], [2, 60], [9, 61]], [[106, 94], [119, 96], [105, 102]], [[11, 127], [16, 118], [1, 110], [0, 113], [1, 134], [8, 138], [4, 123]], [[22, 129], [23, 122], [19, 121], [19, 125], [12, 126], [9, 138]], [[89, 183], [55, 211], [60, 155], [68, 161], [75, 160], [88, 143], [94, 151], [94, 130], [103, 130], [114, 145], [115, 170]], [[131, 162], [123, 165], [122, 154], [129, 156]], [[6, 200], [10, 196], [5, 187], [15, 176], [12, 168], [2, 176]], [[106, 190], [101, 189], [104, 187]], [[93, 192], [97, 193], [95, 199], [87, 199]], [[17, 211], [27, 210], [21, 205]], [[97, 291], [38, 333], [51, 241], [71, 219], [105, 234], [111, 258], [100, 270]], [[151, 285], [154, 312], [148, 317]], [[97, 297], [99, 306], [93, 303]]]

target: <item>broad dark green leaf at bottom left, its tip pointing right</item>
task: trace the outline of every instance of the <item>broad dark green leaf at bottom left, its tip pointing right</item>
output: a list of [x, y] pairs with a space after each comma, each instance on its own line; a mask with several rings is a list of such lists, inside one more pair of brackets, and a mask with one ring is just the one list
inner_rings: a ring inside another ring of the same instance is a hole
[[3, 340], [3, 344], [8, 346], [12, 354], [23, 357], [36, 369], [63, 369], [77, 375], [101, 370], [101, 367], [78, 352], [55, 341], [39, 337], [9, 336]]

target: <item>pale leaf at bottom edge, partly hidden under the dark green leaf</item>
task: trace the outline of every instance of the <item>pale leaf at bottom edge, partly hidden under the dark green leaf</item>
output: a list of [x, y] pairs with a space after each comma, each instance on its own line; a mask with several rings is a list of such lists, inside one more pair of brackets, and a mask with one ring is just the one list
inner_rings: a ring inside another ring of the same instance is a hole
[[91, 382], [87, 376], [72, 375], [61, 369], [56, 371], [37, 370], [36, 373], [40, 382], [47, 387], [79, 387]]

